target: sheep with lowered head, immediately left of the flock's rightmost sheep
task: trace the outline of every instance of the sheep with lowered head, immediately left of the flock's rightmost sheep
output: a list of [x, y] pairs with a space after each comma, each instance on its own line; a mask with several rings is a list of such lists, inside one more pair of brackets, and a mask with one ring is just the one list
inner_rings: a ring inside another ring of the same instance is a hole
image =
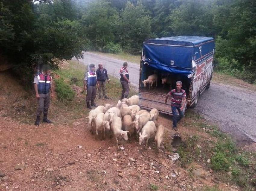
[[148, 121], [144, 127], [142, 128], [141, 132], [139, 132], [139, 145], [141, 145], [145, 139], [146, 140], [146, 145], [145, 148], [148, 146], [148, 139], [151, 136], [154, 136], [156, 132], [156, 127], [154, 121]]

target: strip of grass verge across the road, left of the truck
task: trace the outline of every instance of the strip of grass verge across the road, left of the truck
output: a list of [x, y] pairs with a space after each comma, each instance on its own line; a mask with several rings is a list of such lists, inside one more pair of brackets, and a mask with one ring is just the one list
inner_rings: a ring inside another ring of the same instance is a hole
[[120, 52], [120, 53], [117, 53], [117, 54], [103, 53], [103, 52], [93, 52], [93, 53], [98, 54], [98, 55], [102, 55], [102, 56], [107, 56], [107, 57], [110, 57], [110, 58], [117, 58], [117, 59], [120, 59], [120, 60], [123, 60], [123, 61], [132, 62], [134, 64], [140, 64], [141, 55], [130, 55], [130, 54], [127, 54], [127, 53], [124, 53], [124, 52]]

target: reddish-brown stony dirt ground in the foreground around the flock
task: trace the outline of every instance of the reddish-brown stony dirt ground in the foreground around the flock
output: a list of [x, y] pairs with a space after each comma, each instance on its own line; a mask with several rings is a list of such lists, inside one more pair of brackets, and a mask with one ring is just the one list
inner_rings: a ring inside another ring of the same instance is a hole
[[[177, 151], [171, 145], [169, 118], [160, 117], [158, 121], [166, 127], [159, 154], [155, 153], [153, 139], [145, 150], [135, 138], [131, 143], [121, 141], [124, 154], [117, 151], [115, 140], [109, 136], [100, 140], [91, 135], [85, 108], [84, 115], [76, 115], [62, 107], [58, 113], [60, 122], [34, 126], [33, 95], [27, 95], [14, 78], [6, 75], [0, 75], [5, 79], [0, 93], [0, 190], [203, 190], [215, 185], [221, 190], [240, 190], [221, 183], [213, 173], [207, 162], [210, 156], [204, 152], [214, 146], [216, 138], [186, 126], [191, 123], [189, 118], [179, 123], [180, 136], [183, 141], [193, 135], [200, 137], [200, 149], [196, 146], [194, 150], [202, 154], [198, 153], [197, 163], [182, 168], [180, 160], [172, 162], [169, 157]], [[18, 113], [21, 117], [14, 118], [12, 114]], [[67, 116], [76, 119], [63, 123]], [[21, 119], [26, 123], [21, 123]]]

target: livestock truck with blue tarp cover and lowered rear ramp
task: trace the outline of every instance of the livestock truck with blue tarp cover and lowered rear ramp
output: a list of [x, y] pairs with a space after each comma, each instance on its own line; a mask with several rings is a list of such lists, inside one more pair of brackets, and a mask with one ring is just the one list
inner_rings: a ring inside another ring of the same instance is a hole
[[[199, 36], [177, 36], [148, 39], [143, 42], [139, 73], [139, 106], [156, 108], [172, 115], [170, 98], [164, 103], [166, 94], [176, 88], [176, 81], [183, 82], [187, 106], [194, 107], [200, 94], [210, 87], [214, 39]], [[142, 83], [148, 76], [156, 74], [156, 88]], [[164, 80], [168, 79], [167, 83]]]

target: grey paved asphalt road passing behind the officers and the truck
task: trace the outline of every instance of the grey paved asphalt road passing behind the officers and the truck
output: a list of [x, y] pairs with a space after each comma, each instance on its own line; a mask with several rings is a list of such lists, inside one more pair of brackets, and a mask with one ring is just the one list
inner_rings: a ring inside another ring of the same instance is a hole
[[[119, 70], [124, 61], [84, 52], [84, 64], [103, 63], [108, 73], [119, 78]], [[130, 81], [138, 86], [139, 64], [128, 62]], [[256, 93], [235, 87], [211, 82], [205, 90], [195, 110], [210, 121], [217, 122], [224, 132], [235, 136], [240, 143], [256, 142]]]

